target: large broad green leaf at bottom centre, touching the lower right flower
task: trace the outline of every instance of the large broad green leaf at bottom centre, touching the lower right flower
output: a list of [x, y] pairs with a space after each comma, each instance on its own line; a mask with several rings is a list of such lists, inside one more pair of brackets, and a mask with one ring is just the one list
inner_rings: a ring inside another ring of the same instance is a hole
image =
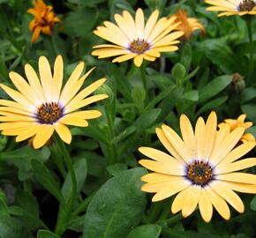
[[146, 207], [140, 190], [145, 169], [133, 168], [102, 185], [87, 208], [84, 238], [120, 238], [139, 224]]

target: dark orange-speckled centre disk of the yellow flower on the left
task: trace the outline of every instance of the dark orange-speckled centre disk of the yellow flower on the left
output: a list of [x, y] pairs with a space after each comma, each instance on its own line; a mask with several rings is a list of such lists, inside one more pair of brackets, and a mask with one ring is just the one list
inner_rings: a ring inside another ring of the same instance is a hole
[[63, 114], [63, 109], [56, 102], [46, 102], [38, 108], [37, 119], [40, 123], [55, 123]]

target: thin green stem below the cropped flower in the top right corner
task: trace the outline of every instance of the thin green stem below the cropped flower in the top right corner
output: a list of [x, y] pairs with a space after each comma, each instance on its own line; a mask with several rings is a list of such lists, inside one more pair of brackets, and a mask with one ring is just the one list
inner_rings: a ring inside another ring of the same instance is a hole
[[248, 65], [248, 85], [252, 85], [252, 74], [253, 74], [253, 39], [252, 39], [252, 18], [246, 19], [246, 26], [248, 30], [248, 38], [249, 38], [249, 44], [250, 44], [250, 59], [249, 59], [249, 65]]

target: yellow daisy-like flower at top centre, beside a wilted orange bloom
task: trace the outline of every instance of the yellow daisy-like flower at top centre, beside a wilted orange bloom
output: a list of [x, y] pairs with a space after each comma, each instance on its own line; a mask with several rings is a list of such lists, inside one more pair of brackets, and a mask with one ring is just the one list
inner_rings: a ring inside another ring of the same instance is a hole
[[105, 21], [104, 26], [98, 26], [94, 33], [113, 44], [94, 46], [93, 56], [105, 58], [117, 56], [112, 62], [121, 63], [132, 59], [137, 67], [143, 59], [154, 61], [160, 57], [161, 52], [176, 51], [177, 39], [183, 32], [174, 29], [179, 25], [175, 23], [176, 17], [158, 19], [159, 11], [154, 11], [146, 25], [144, 13], [141, 9], [136, 11], [135, 20], [129, 11], [123, 15], [115, 14], [116, 24]]

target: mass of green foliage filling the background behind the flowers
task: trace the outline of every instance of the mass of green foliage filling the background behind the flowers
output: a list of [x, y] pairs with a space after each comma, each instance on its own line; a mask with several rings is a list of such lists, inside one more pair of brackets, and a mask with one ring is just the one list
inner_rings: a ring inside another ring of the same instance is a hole
[[[206, 224], [197, 212], [181, 219], [169, 211], [171, 198], [151, 204], [150, 195], [140, 191], [140, 177], [147, 171], [137, 163], [139, 146], [161, 147], [155, 127], [167, 123], [178, 130], [181, 113], [195, 122], [212, 109], [219, 120], [244, 112], [256, 123], [255, 86], [246, 86], [246, 78], [240, 85], [232, 83], [232, 74], [247, 74], [250, 48], [245, 21], [240, 17], [218, 19], [205, 10], [203, 1], [196, 0], [51, 1], [62, 19], [59, 31], [32, 44], [31, 16], [26, 13], [31, 4], [0, 1], [0, 78], [4, 84], [10, 84], [9, 71], [24, 74], [25, 63], [36, 68], [39, 56], [48, 56], [53, 63], [58, 54], [64, 56], [64, 79], [80, 60], [86, 62], [87, 69], [97, 67], [88, 82], [102, 76], [108, 79], [99, 91], [109, 94], [109, 99], [94, 106], [102, 111], [102, 117], [87, 128], [72, 129], [69, 150], [78, 199], [63, 237], [253, 237], [255, 197], [244, 196], [245, 214], [234, 212], [230, 221], [215, 215]], [[103, 20], [113, 20], [114, 13], [134, 13], [138, 7], [146, 16], [156, 8], [162, 16], [186, 9], [207, 30], [204, 38], [195, 33], [176, 53], [143, 65], [150, 100], [140, 71], [131, 62], [114, 64], [90, 55], [92, 47], [102, 41], [93, 29]], [[254, 37], [254, 45], [255, 41]], [[2, 91], [0, 96], [6, 98]], [[255, 136], [256, 127], [250, 132]], [[59, 222], [57, 214], [64, 211], [72, 192], [71, 175], [59, 148], [52, 144], [34, 151], [27, 142], [16, 144], [5, 137], [1, 137], [0, 147], [0, 237], [59, 237], [53, 232]], [[57, 167], [63, 169], [59, 172]]]

